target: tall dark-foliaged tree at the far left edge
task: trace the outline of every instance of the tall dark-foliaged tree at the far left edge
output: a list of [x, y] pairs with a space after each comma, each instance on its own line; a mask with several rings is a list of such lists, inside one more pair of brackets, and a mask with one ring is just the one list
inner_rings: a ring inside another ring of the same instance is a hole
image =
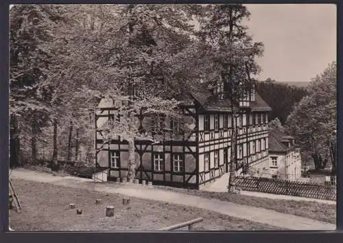
[[10, 113], [21, 117], [23, 141], [31, 137], [34, 162], [40, 128], [50, 111], [45, 100], [51, 91], [43, 82], [51, 56], [42, 44], [51, 41], [51, 30], [59, 19], [58, 6], [15, 5], [10, 11]]

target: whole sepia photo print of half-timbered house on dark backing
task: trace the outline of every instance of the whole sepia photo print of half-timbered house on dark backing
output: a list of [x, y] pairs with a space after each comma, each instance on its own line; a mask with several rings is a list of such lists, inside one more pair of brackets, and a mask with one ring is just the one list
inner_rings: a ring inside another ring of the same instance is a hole
[[8, 11], [10, 231], [335, 230], [336, 5]]

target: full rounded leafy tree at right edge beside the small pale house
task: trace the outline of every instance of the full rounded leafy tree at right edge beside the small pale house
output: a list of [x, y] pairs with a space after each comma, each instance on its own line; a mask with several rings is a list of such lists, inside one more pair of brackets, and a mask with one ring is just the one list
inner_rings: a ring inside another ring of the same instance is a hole
[[[330, 144], [337, 129], [337, 65], [331, 63], [311, 81], [309, 95], [295, 107], [286, 122], [287, 132], [296, 137], [305, 158], [314, 161], [316, 170], [330, 159]], [[331, 157], [335, 168], [335, 159]]]

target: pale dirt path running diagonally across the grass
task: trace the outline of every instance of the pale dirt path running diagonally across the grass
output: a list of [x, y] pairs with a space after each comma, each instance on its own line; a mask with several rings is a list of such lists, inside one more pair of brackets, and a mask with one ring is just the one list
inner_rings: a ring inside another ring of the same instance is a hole
[[145, 198], [150, 200], [158, 200], [167, 203], [175, 203], [178, 205], [186, 205], [190, 207], [198, 207], [222, 213], [228, 216], [243, 218], [263, 224], [270, 224], [275, 227], [292, 230], [334, 230], [335, 224], [301, 218], [285, 213], [261, 209], [258, 207], [249, 207], [245, 205], [237, 205], [235, 203], [224, 202], [215, 199], [201, 198], [187, 194], [176, 192], [167, 192], [161, 189], [147, 188], [141, 185], [118, 185], [115, 183], [93, 183], [93, 181], [84, 178], [76, 178], [71, 176], [60, 177], [52, 176], [41, 172], [33, 172], [29, 170], [14, 170], [11, 178], [21, 178], [27, 181], [37, 181], [42, 183], [51, 183], [54, 185], [64, 185], [66, 187], [94, 189], [97, 192], [119, 193], [126, 196], [136, 198]]

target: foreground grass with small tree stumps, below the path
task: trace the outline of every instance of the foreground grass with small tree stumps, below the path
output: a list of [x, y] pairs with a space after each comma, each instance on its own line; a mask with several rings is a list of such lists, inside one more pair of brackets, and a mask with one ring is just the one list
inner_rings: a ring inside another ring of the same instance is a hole
[[[163, 227], [202, 217], [194, 230], [279, 230], [192, 207], [131, 198], [122, 204], [123, 196], [105, 194], [91, 189], [74, 189], [47, 183], [12, 179], [23, 210], [10, 210], [10, 226], [17, 231], [153, 231]], [[95, 205], [95, 199], [102, 203]], [[75, 209], [69, 209], [75, 203]], [[115, 216], [106, 217], [106, 206], [115, 207]], [[77, 215], [76, 209], [82, 209]]]

